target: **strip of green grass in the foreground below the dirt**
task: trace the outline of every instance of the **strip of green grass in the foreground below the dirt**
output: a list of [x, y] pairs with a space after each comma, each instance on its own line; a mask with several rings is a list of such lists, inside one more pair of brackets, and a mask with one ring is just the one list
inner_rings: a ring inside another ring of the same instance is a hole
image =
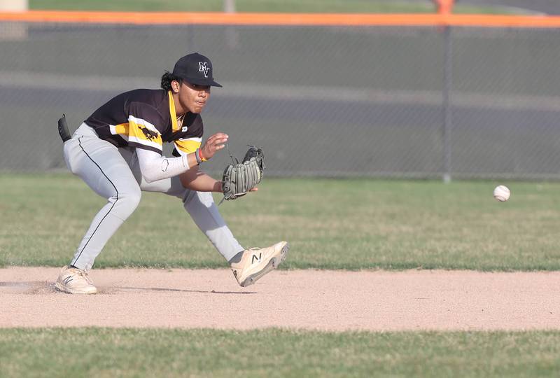
[[0, 330], [1, 377], [555, 377], [560, 332]]

